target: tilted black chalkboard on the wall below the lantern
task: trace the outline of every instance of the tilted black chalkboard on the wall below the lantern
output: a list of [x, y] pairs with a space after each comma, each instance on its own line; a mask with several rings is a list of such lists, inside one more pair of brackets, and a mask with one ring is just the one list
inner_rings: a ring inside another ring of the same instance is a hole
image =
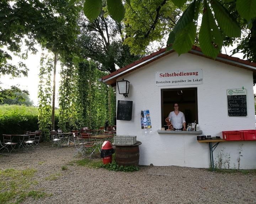
[[132, 101], [117, 102], [117, 120], [132, 120]]

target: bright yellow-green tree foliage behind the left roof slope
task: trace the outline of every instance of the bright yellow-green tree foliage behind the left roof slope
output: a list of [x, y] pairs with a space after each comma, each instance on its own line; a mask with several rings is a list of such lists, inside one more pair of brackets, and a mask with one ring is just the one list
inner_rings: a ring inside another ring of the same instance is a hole
[[153, 41], [164, 46], [165, 42], [162, 43], [161, 39], [174, 28], [182, 12], [172, 1], [167, 0], [133, 0], [130, 6], [125, 7], [124, 44], [134, 54], [146, 53], [146, 46]]

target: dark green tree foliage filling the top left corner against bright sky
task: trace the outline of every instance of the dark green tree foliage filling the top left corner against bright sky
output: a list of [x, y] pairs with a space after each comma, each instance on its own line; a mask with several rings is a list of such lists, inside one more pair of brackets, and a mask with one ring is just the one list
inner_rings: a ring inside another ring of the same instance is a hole
[[[28, 52], [36, 53], [35, 43], [53, 52], [72, 54], [75, 36], [79, 33], [76, 19], [79, 7], [68, 0], [2, 0], [0, 2], [0, 73], [19, 76], [27, 75], [25, 64], [16, 67], [7, 60], [11, 55], [2, 48], [26, 58]], [[21, 53], [23, 40], [27, 47]]]

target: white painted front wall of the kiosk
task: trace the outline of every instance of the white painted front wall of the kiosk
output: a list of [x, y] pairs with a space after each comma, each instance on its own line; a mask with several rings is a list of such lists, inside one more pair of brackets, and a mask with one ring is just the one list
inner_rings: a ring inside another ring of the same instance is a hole
[[[203, 69], [203, 84], [155, 85], [155, 72], [177, 69]], [[117, 91], [117, 100], [133, 101], [133, 116], [131, 121], [117, 120], [117, 135], [136, 135], [137, 140], [142, 142], [139, 146], [140, 165], [210, 166], [208, 143], [197, 142], [197, 135], [157, 132], [161, 129], [161, 89], [197, 87], [198, 123], [203, 135], [222, 137], [222, 131], [225, 130], [255, 129], [253, 78], [249, 70], [190, 53], [180, 57], [177, 53], [171, 53], [117, 80], [122, 78], [130, 81], [129, 96], [124, 98]], [[247, 117], [229, 117], [226, 90], [242, 87], [247, 90]], [[151, 134], [141, 130], [142, 109], [150, 111]], [[222, 154], [229, 168], [238, 168], [240, 165], [240, 169], [256, 169], [255, 153], [256, 141], [221, 142], [214, 151], [214, 160], [219, 163], [218, 158]]]

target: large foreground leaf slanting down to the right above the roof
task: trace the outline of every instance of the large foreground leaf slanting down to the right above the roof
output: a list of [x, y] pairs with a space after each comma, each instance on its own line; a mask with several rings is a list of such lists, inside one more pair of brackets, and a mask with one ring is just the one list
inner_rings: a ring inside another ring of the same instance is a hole
[[229, 37], [240, 38], [241, 29], [238, 26], [238, 23], [232, 16], [229, 14], [228, 10], [221, 5], [217, 0], [212, 1], [212, 8], [217, 19], [220, 29]]

